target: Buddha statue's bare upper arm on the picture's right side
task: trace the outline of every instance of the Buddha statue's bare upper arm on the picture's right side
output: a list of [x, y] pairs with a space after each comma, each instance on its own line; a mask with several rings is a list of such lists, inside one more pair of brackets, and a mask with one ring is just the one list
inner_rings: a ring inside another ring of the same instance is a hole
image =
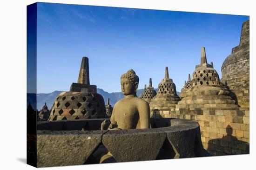
[[140, 114], [141, 129], [150, 128], [149, 126], [150, 110], [149, 110], [148, 102], [145, 101], [139, 104], [138, 112]]

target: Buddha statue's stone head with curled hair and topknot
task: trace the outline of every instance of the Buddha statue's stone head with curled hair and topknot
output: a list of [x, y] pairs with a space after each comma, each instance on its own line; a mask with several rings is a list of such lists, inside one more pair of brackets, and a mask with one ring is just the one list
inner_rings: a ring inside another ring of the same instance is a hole
[[139, 84], [139, 77], [136, 75], [133, 69], [128, 70], [121, 76], [121, 90], [122, 94], [129, 95], [137, 93]]

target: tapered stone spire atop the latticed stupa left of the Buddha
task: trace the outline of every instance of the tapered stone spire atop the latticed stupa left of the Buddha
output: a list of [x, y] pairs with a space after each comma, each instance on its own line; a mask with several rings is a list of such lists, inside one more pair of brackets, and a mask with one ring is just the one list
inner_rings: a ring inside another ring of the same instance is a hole
[[80, 72], [78, 76], [77, 83], [80, 84], [90, 84], [90, 78], [89, 78], [89, 60], [88, 57], [83, 57], [80, 67]]

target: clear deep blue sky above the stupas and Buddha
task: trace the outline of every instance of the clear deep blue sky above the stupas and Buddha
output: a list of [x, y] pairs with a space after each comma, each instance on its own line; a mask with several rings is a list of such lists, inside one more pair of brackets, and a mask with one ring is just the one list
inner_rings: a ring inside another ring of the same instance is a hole
[[38, 3], [37, 91], [69, 90], [81, 58], [89, 58], [90, 83], [120, 92], [120, 76], [134, 69], [139, 88], [157, 88], [165, 67], [180, 91], [200, 63], [201, 47], [221, 77], [249, 16], [103, 6]]

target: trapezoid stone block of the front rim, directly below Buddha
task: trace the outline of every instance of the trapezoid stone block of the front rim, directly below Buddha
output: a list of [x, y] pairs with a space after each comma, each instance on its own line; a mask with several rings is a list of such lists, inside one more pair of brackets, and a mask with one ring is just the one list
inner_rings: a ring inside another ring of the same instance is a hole
[[165, 138], [156, 129], [117, 130], [107, 132], [102, 143], [117, 162], [142, 161], [156, 159]]

